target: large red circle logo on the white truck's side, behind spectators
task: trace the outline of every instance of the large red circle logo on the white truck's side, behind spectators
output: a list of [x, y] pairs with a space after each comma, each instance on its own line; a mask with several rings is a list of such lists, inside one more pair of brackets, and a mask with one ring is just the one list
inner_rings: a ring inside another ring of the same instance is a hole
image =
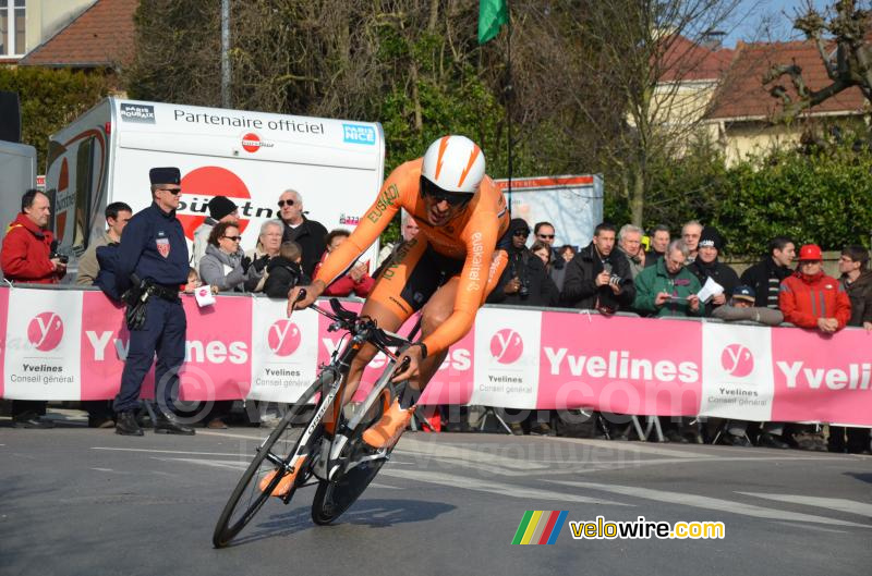
[[[252, 194], [238, 175], [226, 168], [204, 166], [182, 176], [182, 201], [175, 211], [182, 222], [184, 235], [194, 240], [194, 231], [209, 216], [208, 204], [215, 196], [226, 196], [239, 207], [239, 231], [245, 231], [249, 218], [243, 216], [243, 207], [251, 204]], [[243, 244], [247, 247], [247, 244]]]

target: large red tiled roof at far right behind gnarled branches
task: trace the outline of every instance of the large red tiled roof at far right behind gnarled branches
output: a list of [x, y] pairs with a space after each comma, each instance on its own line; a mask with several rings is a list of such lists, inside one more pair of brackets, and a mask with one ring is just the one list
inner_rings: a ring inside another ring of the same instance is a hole
[[[827, 51], [834, 49], [833, 45]], [[773, 65], [794, 63], [802, 69], [802, 78], [809, 89], [819, 90], [831, 84], [820, 52], [811, 41], [739, 44], [732, 65], [715, 95], [714, 108], [708, 118], [772, 118], [780, 110], [782, 100], [773, 98], [770, 89], [773, 86], [784, 86], [795, 101], [797, 93], [790, 76], [782, 76], [766, 86], [763, 86], [763, 76]], [[824, 100], [806, 113], [859, 113], [865, 103], [860, 89], [852, 87]]]

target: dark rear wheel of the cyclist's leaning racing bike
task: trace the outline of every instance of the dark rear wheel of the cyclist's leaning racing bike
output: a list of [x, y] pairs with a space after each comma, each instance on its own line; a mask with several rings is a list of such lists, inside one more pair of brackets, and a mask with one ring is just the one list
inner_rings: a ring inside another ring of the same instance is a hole
[[[356, 456], [372, 453], [372, 449], [363, 441], [363, 431], [382, 417], [383, 403], [377, 403], [374, 414], [364, 418], [350, 434], [348, 444], [340, 457], [354, 459]], [[391, 446], [386, 456], [393, 450]], [[368, 461], [349, 470], [339, 470], [330, 480], [319, 480], [315, 497], [312, 499], [312, 522], [325, 526], [344, 514], [363, 494], [366, 487], [385, 465], [386, 458]]]

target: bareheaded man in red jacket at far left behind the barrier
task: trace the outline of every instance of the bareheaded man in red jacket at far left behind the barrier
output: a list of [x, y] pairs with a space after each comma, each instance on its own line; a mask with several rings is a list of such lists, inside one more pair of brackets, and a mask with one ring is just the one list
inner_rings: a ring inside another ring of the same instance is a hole
[[[51, 216], [48, 196], [28, 189], [21, 198], [21, 213], [9, 225], [0, 250], [3, 275], [12, 282], [57, 284], [66, 273], [66, 265], [51, 258], [55, 235], [46, 230]], [[12, 401], [12, 419], [16, 428], [51, 428], [39, 418], [46, 413], [46, 402]]]

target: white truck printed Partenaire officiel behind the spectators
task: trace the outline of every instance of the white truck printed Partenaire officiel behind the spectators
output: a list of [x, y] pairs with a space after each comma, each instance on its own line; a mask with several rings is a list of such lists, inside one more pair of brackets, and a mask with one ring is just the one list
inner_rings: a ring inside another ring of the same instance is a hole
[[[384, 180], [385, 138], [378, 123], [107, 98], [49, 142], [60, 250], [77, 256], [98, 237], [110, 203], [146, 208], [149, 169], [168, 166], [182, 172], [177, 213], [189, 241], [222, 195], [239, 206], [249, 249], [289, 188], [328, 231], [353, 230]], [[377, 249], [362, 260], [375, 262]]]

